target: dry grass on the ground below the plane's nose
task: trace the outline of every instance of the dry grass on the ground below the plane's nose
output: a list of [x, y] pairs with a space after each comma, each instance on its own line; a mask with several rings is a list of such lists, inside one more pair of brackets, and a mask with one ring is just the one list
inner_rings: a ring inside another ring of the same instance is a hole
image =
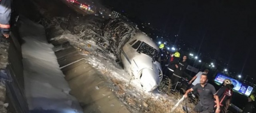
[[[101, 71], [102, 73], [107, 74], [108, 71]], [[110, 74], [110, 73], [108, 73]], [[109, 75], [111, 77], [111, 75]], [[127, 93], [125, 89], [134, 89], [134, 86], [130, 83], [125, 86], [122, 81], [111, 77], [110, 80], [118, 86], [118, 89], [115, 91], [116, 95], [122, 99], [123, 102], [127, 104], [129, 109], [136, 109], [134, 113], [170, 113], [171, 108], [176, 104], [177, 100], [182, 98], [179, 92], [171, 91], [171, 80], [163, 80], [161, 85], [159, 86], [159, 90], [163, 95], [168, 95], [167, 97], [160, 97], [158, 99], [151, 97], [142, 97], [137, 98], [134, 95]], [[142, 94], [143, 95], [143, 94]], [[174, 111], [174, 113], [185, 113], [182, 110], [182, 106], [185, 105], [185, 101], [183, 101], [179, 107]], [[194, 107], [194, 104], [187, 104], [189, 109]], [[190, 112], [193, 113], [193, 112]]]

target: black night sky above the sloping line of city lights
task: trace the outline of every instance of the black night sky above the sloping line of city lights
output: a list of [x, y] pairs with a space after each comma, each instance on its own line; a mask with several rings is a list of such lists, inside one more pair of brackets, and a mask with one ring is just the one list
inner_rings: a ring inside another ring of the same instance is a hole
[[[255, 76], [256, 0], [103, 0]], [[255, 76], [256, 78], [256, 76]]]

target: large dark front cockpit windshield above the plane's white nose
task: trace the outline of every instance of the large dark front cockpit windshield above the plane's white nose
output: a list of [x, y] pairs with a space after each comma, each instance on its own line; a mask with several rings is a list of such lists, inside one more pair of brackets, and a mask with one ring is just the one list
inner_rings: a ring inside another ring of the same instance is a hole
[[159, 51], [157, 51], [155, 48], [151, 47], [150, 45], [146, 44], [145, 42], [142, 42], [140, 45], [140, 48], [137, 50], [139, 53], [146, 54], [150, 56], [154, 61], [159, 58]]

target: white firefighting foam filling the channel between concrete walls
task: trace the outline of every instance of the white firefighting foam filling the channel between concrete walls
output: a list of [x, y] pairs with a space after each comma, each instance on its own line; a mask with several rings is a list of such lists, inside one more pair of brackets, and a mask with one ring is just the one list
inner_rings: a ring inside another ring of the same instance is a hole
[[59, 68], [53, 45], [46, 40], [44, 27], [21, 18], [19, 33], [24, 65], [25, 95], [29, 110], [55, 110], [82, 113], [78, 101]]

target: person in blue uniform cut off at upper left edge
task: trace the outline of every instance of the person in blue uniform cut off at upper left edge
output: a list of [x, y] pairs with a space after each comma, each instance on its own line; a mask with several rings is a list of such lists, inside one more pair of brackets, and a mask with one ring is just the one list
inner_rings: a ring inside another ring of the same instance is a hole
[[9, 38], [11, 12], [11, 0], [0, 0], [0, 30], [5, 38]]

